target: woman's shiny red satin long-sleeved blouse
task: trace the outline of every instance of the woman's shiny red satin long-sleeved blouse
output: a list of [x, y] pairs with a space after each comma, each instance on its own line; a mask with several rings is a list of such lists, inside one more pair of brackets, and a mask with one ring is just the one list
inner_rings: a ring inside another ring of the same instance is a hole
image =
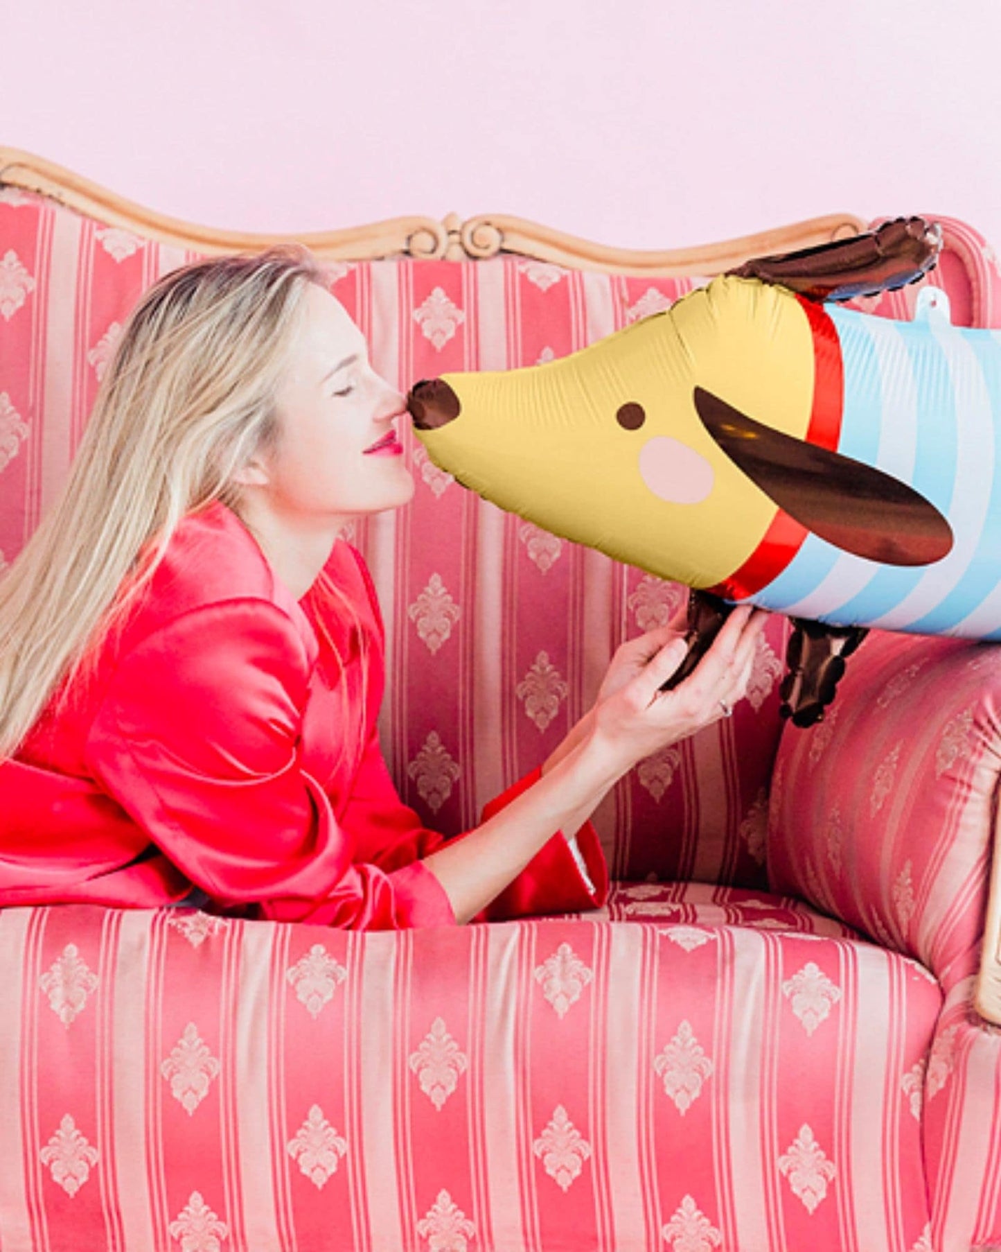
[[[0, 764], [0, 905], [156, 906], [198, 888], [209, 908], [282, 921], [454, 924], [420, 860], [444, 836], [379, 749], [372, 580], [343, 541], [324, 572], [295, 601], [226, 506], [184, 518], [120, 639]], [[480, 919], [602, 904], [589, 824], [578, 841], [593, 889], [554, 835]]]

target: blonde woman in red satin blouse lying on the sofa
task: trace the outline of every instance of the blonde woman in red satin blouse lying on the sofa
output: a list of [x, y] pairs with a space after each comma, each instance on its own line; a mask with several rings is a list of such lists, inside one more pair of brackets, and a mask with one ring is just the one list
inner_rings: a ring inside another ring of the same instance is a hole
[[404, 416], [305, 252], [146, 293], [63, 500], [0, 580], [0, 904], [394, 928], [602, 903], [588, 815], [741, 699], [762, 615], [733, 612], [669, 694], [678, 635], [624, 645], [480, 826], [424, 830], [379, 751], [382, 626], [340, 537], [410, 498]]

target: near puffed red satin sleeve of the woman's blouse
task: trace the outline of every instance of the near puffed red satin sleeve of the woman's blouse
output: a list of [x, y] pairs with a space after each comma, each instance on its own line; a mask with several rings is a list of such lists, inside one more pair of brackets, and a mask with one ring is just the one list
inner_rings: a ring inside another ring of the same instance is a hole
[[353, 864], [349, 834], [299, 762], [310, 669], [295, 625], [268, 601], [184, 613], [118, 665], [89, 767], [223, 909], [352, 929], [454, 924], [419, 861]]

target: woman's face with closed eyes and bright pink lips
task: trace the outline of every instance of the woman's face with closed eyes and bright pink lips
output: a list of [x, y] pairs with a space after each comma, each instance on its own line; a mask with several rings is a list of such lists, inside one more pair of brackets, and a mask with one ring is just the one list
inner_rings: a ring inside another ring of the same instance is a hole
[[268, 505], [285, 521], [325, 528], [413, 496], [397, 438], [405, 399], [373, 371], [362, 332], [315, 283], [307, 288], [277, 416], [277, 444], [257, 461]]

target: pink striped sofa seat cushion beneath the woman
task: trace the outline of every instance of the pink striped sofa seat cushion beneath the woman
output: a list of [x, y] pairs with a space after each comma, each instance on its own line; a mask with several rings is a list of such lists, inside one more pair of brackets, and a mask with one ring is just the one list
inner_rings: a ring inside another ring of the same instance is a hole
[[4, 1247], [76, 1247], [86, 1223], [129, 1248], [200, 1228], [221, 1248], [910, 1252], [938, 987], [734, 900], [398, 934], [6, 909], [0, 1159], [24, 1169], [0, 1171]]

